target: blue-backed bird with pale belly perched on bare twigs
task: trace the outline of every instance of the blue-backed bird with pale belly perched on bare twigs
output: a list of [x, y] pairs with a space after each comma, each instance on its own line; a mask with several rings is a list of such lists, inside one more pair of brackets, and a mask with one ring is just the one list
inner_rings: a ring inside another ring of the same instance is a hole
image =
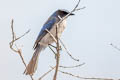
[[[54, 39], [51, 37], [51, 35], [46, 31], [46, 29], [54, 36], [56, 37], [56, 24], [64, 18], [66, 15], [74, 15], [73, 13], [69, 12], [65, 9], [58, 9], [56, 10], [44, 23], [35, 43], [34, 43], [34, 54], [29, 62], [29, 64], [26, 66], [26, 69], [24, 71], [24, 74], [26, 75], [33, 75], [37, 69], [38, 64], [38, 58], [42, 50], [44, 50], [49, 44], [54, 43]], [[64, 31], [66, 27], [66, 19], [64, 19], [57, 28], [57, 35], [58, 38], [60, 38], [62, 32]]]

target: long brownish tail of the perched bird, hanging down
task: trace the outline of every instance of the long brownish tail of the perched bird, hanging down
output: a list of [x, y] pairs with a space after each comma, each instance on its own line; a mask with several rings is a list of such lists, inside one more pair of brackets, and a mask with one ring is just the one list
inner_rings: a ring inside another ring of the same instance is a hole
[[36, 50], [32, 56], [32, 59], [30, 60], [29, 64], [26, 67], [24, 74], [33, 75], [33, 73], [37, 69], [39, 54], [43, 49], [45, 49], [45, 46], [42, 46], [40, 44], [36, 47]]

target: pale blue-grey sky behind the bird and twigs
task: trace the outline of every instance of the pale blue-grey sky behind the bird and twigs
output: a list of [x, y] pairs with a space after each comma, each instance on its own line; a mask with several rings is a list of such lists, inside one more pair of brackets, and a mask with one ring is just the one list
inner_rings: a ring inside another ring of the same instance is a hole
[[[33, 45], [47, 18], [57, 9], [72, 10], [78, 0], [0, 0], [0, 79], [30, 80], [23, 75], [25, 69], [20, 57], [11, 51], [10, 22], [14, 18], [14, 28], [18, 36], [31, 29], [30, 33], [18, 41], [23, 45], [22, 52], [28, 63], [33, 54]], [[76, 69], [66, 69], [83, 77], [120, 78], [120, 0], [81, 0], [79, 7], [84, 10], [76, 12], [67, 19], [67, 28], [62, 39], [72, 55], [80, 59], [74, 62], [61, 52], [61, 65], [71, 66], [85, 62]], [[39, 65], [34, 78], [55, 65], [53, 53], [47, 48], [39, 58]], [[43, 80], [52, 80], [53, 72]], [[58, 74], [58, 80], [80, 80], [64, 74]]]

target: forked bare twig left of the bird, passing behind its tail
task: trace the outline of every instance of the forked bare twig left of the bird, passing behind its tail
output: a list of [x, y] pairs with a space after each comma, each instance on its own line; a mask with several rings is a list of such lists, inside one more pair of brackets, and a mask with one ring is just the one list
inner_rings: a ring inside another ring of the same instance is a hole
[[[23, 56], [22, 56], [21, 49], [19, 49], [16, 45], [15, 45], [15, 46], [16, 46], [16, 49], [15, 49], [15, 48], [13, 48], [13, 46], [14, 46], [15, 41], [19, 40], [20, 38], [22, 38], [23, 36], [25, 36], [26, 34], [28, 34], [30, 30], [28, 30], [28, 31], [25, 32], [22, 36], [20, 36], [20, 37], [17, 38], [17, 37], [15, 36], [15, 32], [14, 32], [13, 22], [14, 22], [14, 20], [12, 19], [12, 21], [11, 21], [12, 41], [10, 42], [9, 45], [10, 45], [11, 50], [13, 50], [14, 52], [16, 52], [16, 53], [19, 54], [19, 56], [20, 56], [20, 58], [21, 58], [21, 60], [22, 60], [22, 63], [23, 63], [24, 66], [26, 67], [26, 63], [25, 63], [25, 60], [24, 60], [24, 58], [23, 58]], [[31, 77], [31, 80], [34, 80], [31, 75], [30, 75], [30, 77]]]

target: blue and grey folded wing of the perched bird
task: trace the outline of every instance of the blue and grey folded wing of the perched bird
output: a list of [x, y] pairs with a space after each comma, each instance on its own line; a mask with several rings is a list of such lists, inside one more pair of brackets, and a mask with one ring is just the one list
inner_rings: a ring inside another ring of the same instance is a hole
[[50, 30], [56, 22], [57, 22], [56, 18], [48, 19], [48, 21], [44, 24], [43, 28], [41, 29], [41, 31], [35, 41], [35, 44], [33, 46], [34, 49], [36, 49], [40, 40], [47, 34], [46, 29]]

